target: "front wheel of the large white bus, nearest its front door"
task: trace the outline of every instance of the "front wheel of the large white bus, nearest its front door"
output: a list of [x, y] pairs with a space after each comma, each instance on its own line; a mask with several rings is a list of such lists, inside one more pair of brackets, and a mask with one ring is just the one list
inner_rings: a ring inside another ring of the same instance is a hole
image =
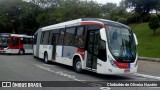
[[81, 60], [79, 58], [77, 58], [75, 60], [73, 68], [77, 73], [82, 72], [82, 63], [81, 63]]

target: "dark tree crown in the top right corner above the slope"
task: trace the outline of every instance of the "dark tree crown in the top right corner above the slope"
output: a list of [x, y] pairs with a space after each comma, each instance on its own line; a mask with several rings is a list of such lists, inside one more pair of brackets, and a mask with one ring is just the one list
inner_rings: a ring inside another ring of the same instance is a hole
[[159, 0], [125, 0], [127, 7], [133, 7], [134, 11], [140, 14], [142, 20], [146, 19], [149, 12], [155, 9]]

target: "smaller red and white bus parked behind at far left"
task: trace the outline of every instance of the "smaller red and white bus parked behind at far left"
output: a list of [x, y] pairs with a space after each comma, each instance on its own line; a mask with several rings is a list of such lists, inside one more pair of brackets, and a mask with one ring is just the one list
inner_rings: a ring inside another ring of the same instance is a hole
[[32, 36], [0, 33], [0, 53], [21, 55], [33, 53], [32, 43]]

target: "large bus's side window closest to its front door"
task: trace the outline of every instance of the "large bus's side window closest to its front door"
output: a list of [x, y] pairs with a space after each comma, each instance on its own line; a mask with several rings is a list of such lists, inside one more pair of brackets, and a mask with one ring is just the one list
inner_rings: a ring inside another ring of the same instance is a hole
[[78, 27], [75, 37], [75, 45], [83, 46], [84, 45], [84, 27]]

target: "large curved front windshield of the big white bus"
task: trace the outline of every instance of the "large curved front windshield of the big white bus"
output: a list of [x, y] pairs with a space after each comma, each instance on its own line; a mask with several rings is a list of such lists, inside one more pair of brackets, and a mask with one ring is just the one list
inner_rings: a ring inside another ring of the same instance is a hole
[[107, 26], [109, 50], [119, 62], [134, 62], [136, 44], [131, 30], [115, 26]]

